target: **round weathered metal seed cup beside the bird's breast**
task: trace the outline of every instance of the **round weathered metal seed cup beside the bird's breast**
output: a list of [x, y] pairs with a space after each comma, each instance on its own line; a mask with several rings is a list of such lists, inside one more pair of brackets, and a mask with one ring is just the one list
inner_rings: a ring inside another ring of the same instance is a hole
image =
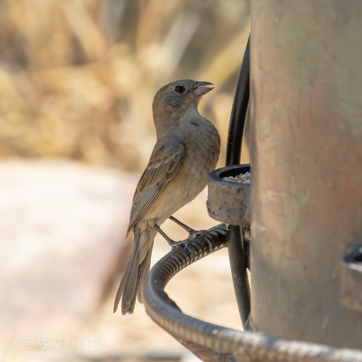
[[211, 218], [231, 224], [250, 227], [250, 185], [222, 181], [250, 171], [250, 165], [219, 168], [209, 174], [207, 211]]

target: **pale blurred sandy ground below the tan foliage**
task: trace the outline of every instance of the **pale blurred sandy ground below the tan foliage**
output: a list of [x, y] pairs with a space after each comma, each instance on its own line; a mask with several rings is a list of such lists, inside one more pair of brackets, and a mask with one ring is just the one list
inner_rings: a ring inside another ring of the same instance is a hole
[[[193, 360], [143, 305], [133, 315], [113, 314], [139, 175], [63, 161], [1, 163], [0, 172], [0, 361]], [[206, 199], [204, 190], [175, 216], [194, 229], [218, 224], [207, 215]], [[170, 220], [163, 230], [175, 240], [186, 237]], [[168, 251], [157, 236], [152, 265]], [[242, 328], [227, 249], [182, 270], [166, 292], [186, 314]], [[88, 345], [71, 345], [81, 338]]]

